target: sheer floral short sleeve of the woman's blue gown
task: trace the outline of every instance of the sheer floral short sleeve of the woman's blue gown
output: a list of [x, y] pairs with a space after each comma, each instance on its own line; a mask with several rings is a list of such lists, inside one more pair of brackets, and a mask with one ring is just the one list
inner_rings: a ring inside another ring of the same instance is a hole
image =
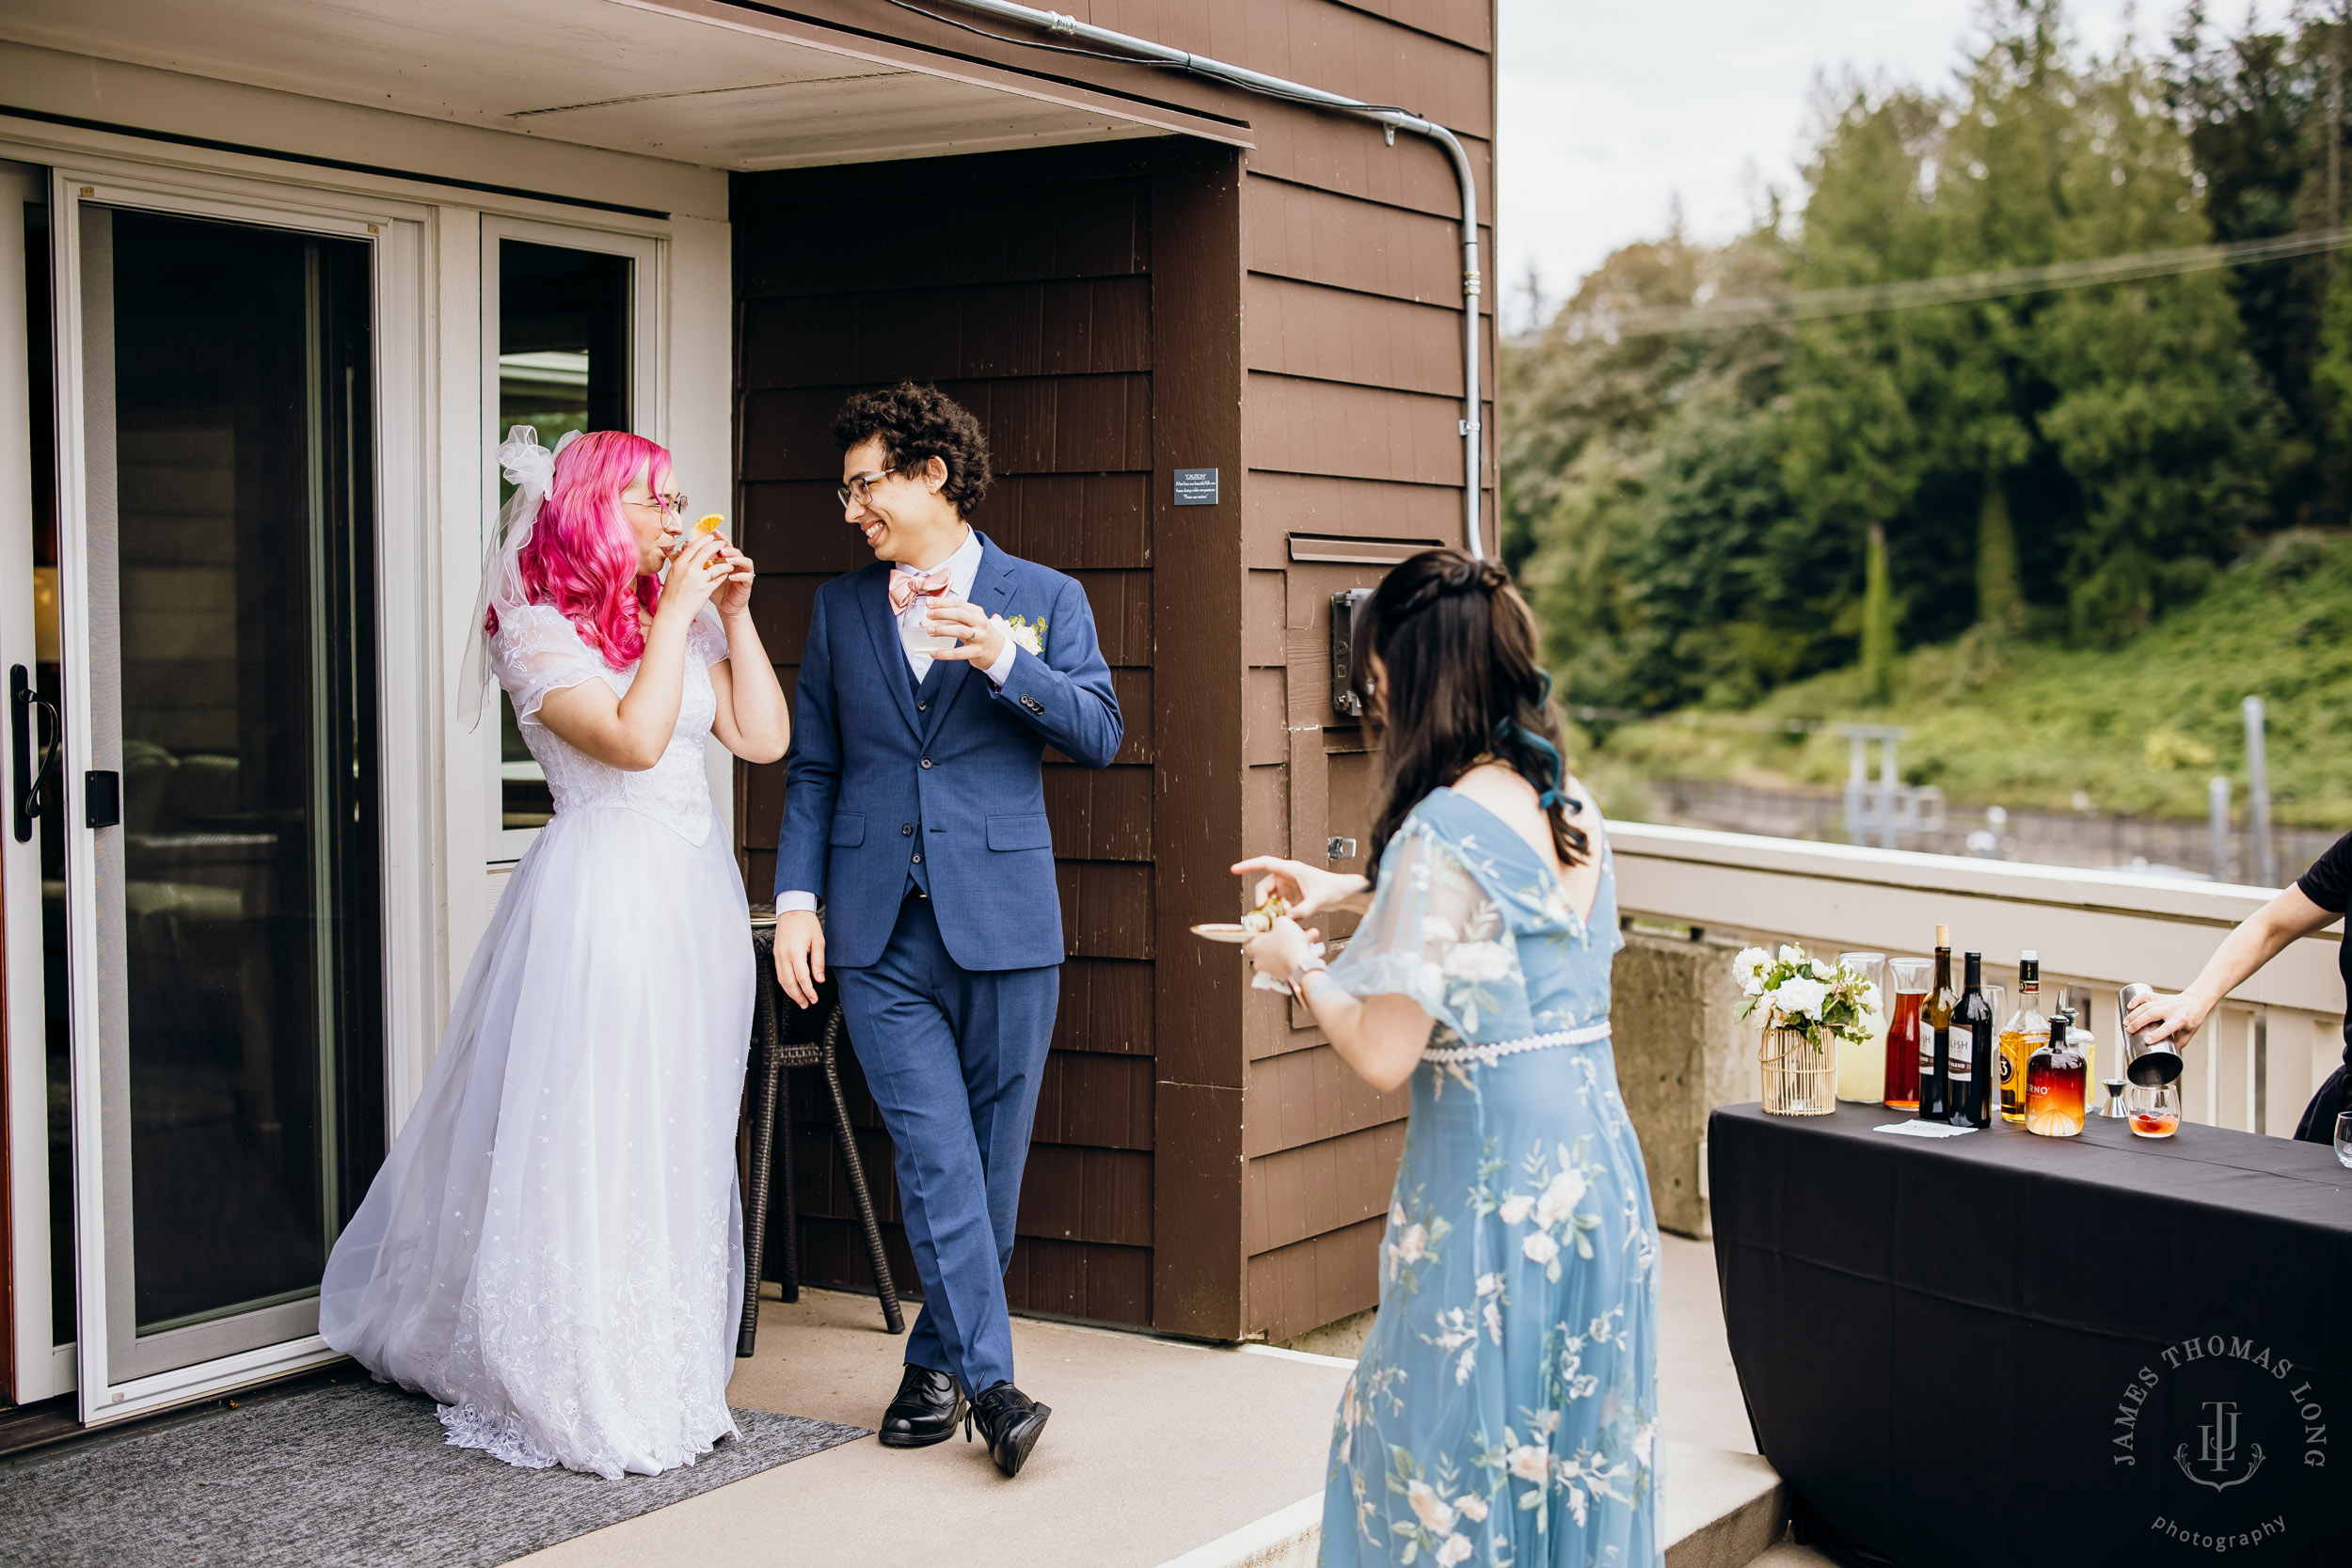
[[1461, 851], [1416, 818], [1381, 856], [1371, 912], [1334, 959], [1331, 978], [1355, 997], [1411, 997], [1472, 1044], [1536, 1032], [1508, 910]]

